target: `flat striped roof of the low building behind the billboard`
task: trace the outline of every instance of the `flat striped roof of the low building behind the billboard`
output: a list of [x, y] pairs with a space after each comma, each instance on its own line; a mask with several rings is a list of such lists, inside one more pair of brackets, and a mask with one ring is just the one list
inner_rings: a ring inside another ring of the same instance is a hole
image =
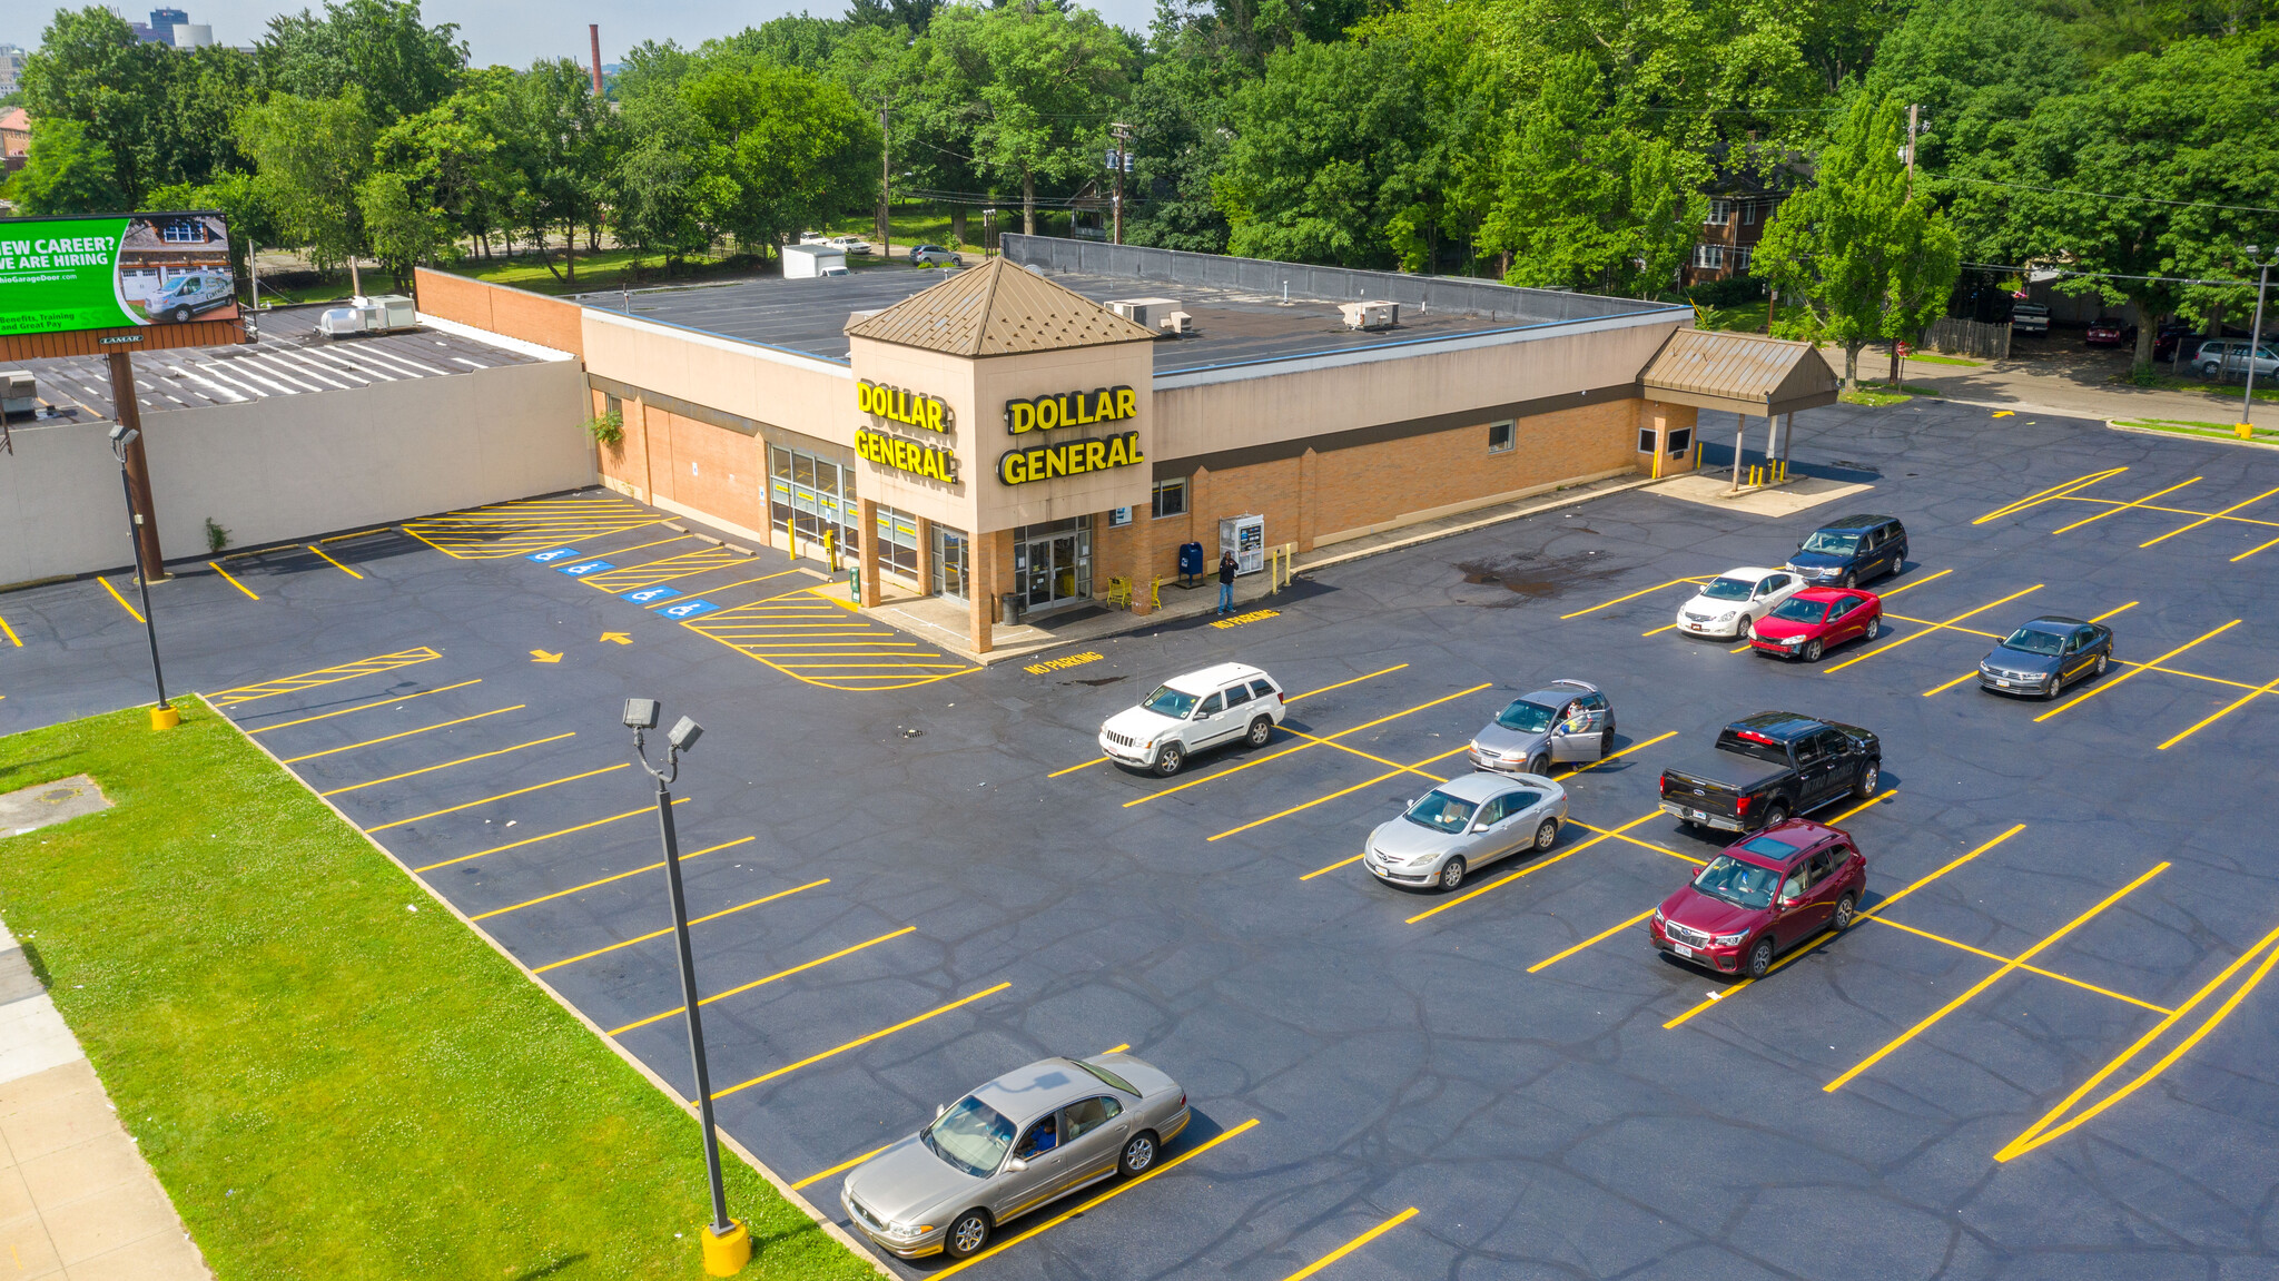
[[[520, 351], [431, 328], [330, 340], [317, 333], [319, 315], [321, 305], [258, 312], [260, 342], [242, 346], [137, 351], [134, 387], [141, 410], [237, 406], [536, 362]], [[25, 360], [18, 369], [30, 369], [36, 378], [36, 394], [46, 406], [41, 419], [112, 417], [112, 374], [103, 356]]]

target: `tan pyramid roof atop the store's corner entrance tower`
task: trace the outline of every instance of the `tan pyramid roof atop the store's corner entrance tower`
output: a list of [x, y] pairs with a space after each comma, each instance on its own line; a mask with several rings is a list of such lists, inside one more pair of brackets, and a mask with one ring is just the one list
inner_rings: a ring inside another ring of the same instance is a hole
[[1003, 258], [864, 317], [848, 333], [950, 356], [1014, 356], [1155, 337], [1151, 328]]

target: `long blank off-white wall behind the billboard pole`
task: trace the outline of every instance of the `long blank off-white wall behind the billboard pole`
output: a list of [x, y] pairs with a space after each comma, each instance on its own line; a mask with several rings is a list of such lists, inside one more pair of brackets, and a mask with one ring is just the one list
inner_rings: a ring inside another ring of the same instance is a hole
[[[574, 360], [144, 413], [160, 545], [205, 556], [595, 481]], [[132, 558], [109, 424], [18, 426], [0, 458], [0, 584]]]

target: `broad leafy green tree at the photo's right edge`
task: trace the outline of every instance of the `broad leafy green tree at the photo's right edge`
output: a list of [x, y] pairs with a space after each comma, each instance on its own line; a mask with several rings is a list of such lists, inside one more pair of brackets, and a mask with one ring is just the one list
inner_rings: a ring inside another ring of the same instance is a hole
[[2279, 57], [2270, 39], [2186, 39], [2113, 62], [2040, 103], [2015, 144], [1951, 171], [1958, 221], [1999, 262], [2074, 271], [2065, 289], [2135, 303], [2135, 369], [2154, 321], [2206, 315], [2238, 287], [2240, 246], [2279, 244]]

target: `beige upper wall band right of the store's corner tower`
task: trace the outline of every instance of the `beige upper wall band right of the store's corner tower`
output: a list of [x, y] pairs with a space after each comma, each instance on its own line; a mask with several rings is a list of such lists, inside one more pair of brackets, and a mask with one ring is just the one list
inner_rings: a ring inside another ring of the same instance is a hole
[[[1602, 321], [1547, 335], [1452, 340], [1260, 369], [1171, 374], [1155, 385], [1155, 458], [1411, 422], [1634, 383], [1675, 319]], [[1313, 365], [1313, 367], [1306, 367]]]

